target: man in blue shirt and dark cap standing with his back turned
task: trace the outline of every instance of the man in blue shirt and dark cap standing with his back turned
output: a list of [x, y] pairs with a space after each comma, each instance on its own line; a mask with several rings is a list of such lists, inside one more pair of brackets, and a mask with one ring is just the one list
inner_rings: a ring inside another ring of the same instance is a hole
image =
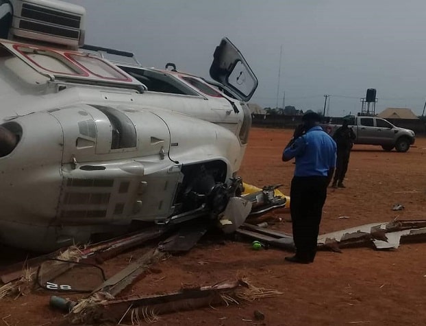
[[296, 255], [287, 261], [309, 264], [316, 255], [316, 242], [327, 198], [327, 187], [336, 167], [336, 142], [318, 123], [321, 116], [306, 113], [284, 149], [284, 162], [296, 159], [290, 189], [290, 213]]

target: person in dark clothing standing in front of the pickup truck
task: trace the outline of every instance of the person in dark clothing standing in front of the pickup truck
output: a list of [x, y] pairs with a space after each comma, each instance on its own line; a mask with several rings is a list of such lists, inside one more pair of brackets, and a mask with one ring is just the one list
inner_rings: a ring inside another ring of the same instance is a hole
[[336, 173], [334, 174], [333, 185], [334, 188], [344, 188], [343, 180], [348, 170], [349, 156], [355, 141], [356, 136], [352, 128], [349, 128], [349, 121], [343, 120], [343, 124], [333, 136], [334, 141], [337, 144], [337, 161], [336, 161]]

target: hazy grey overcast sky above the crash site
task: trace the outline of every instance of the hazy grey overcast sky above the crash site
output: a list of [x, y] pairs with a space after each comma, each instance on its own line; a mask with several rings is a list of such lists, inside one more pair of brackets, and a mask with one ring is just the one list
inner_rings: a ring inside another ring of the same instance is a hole
[[[223, 36], [258, 76], [251, 102], [329, 115], [360, 111], [377, 89], [376, 112], [426, 100], [424, 0], [67, 0], [84, 5], [86, 43], [133, 51], [142, 65], [208, 77]], [[281, 78], [277, 97], [280, 48]]]

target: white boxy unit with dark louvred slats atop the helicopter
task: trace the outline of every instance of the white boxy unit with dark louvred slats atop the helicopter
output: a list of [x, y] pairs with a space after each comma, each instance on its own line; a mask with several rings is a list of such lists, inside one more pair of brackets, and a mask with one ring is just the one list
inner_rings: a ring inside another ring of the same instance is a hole
[[15, 0], [11, 34], [77, 48], [84, 44], [84, 8], [63, 1]]

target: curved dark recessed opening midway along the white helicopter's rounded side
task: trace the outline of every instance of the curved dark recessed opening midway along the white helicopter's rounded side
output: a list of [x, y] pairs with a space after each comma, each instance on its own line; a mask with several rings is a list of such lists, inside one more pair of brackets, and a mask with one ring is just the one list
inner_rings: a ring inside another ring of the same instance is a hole
[[129, 117], [110, 106], [93, 105], [108, 117], [112, 126], [111, 149], [135, 148], [136, 129]]

